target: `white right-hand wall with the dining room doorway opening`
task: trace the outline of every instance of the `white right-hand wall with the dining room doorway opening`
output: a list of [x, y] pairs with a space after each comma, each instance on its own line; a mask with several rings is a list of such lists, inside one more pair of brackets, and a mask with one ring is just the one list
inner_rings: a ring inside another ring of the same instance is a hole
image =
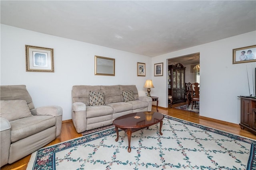
[[[250, 92], [253, 93], [253, 77], [256, 62], [232, 64], [232, 49], [256, 44], [256, 31], [198, 45], [154, 57], [152, 64], [164, 62], [164, 76], [153, 77], [154, 94], [158, 94], [159, 106], [167, 105], [167, 59], [200, 53], [200, 115], [232, 123], [240, 123], [240, 99], [249, 95], [246, 65], [249, 70]], [[164, 83], [166, 82], [166, 83]], [[162, 90], [166, 89], [166, 90]], [[152, 94], [153, 94], [152, 93]]]

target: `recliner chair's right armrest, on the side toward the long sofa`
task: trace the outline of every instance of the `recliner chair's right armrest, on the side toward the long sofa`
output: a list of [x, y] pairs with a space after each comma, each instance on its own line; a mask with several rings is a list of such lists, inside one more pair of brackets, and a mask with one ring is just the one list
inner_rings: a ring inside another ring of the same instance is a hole
[[60, 106], [42, 106], [30, 110], [32, 115], [50, 115], [56, 117], [56, 137], [60, 135], [62, 126], [62, 107]]

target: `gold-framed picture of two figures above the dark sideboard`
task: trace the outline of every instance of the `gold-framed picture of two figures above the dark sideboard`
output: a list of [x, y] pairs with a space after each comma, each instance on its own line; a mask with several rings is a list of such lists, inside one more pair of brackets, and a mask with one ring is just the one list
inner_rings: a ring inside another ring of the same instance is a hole
[[233, 49], [233, 64], [256, 61], [256, 45]]

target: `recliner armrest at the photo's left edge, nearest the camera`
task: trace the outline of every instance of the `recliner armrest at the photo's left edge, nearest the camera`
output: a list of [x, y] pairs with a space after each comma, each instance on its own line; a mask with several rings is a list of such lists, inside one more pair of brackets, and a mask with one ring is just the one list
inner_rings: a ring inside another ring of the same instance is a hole
[[11, 125], [7, 119], [0, 117], [0, 167], [8, 163], [11, 145]]

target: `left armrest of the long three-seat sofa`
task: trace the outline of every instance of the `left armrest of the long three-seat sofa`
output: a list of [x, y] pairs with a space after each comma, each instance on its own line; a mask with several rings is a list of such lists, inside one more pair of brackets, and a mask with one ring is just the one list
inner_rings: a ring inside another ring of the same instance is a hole
[[82, 102], [72, 104], [72, 121], [78, 133], [86, 131], [86, 105]]

